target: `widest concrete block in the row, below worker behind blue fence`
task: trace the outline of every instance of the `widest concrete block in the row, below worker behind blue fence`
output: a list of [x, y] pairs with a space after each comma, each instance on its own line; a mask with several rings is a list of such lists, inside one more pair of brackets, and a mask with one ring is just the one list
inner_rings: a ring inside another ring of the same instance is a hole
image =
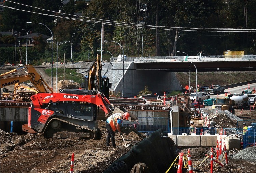
[[177, 146], [200, 146], [200, 135], [192, 133], [187, 135], [183, 133], [182, 135], [177, 135]]

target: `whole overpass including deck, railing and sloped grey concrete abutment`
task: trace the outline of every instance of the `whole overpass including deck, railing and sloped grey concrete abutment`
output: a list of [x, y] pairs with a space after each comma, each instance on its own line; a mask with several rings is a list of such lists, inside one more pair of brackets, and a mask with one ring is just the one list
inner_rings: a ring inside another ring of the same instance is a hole
[[[190, 62], [195, 64], [198, 72], [256, 71], [256, 55], [127, 57], [124, 61], [120, 58], [111, 58], [110, 61], [114, 65], [110, 68], [114, 69], [115, 74], [113, 76], [113, 70], [109, 70], [105, 76], [109, 77], [112, 87], [114, 83], [114, 91], [123, 92], [124, 97], [137, 95], [145, 85], [158, 94], [181, 90], [181, 84], [173, 72], [189, 72]], [[191, 72], [196, 71], [193, 64], [190, 64]]]

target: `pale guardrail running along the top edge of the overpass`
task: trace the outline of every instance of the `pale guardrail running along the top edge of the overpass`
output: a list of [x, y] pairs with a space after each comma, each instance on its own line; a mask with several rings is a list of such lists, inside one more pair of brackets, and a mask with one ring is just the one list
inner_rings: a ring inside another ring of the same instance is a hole
[[[214, 55], [214, 56], [201, 56], [200, 58], [195, 58], [196, 56], [191, 56], [190, 60], [187, 56], [166, 56], [166, 57], [126, 57], [124, 61], [126, 62], [182, 62], [182, 61], [256, 61], [256, 55]], [[110, 58], [110, 62], [118, 62], [117, 57]], [[123, 61], [120, 61], [123, 62]]]

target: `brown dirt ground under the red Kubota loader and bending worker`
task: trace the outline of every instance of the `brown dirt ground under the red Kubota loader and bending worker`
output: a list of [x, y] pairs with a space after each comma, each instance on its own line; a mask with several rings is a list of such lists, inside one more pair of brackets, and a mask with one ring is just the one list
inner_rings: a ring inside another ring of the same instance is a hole
[[146, 137], [134, 129], [121, 127], [129, 148], [123, 146], [124, 141], [118, 134], [117, 148], [106, 147], [105, 121], [98, 124], [102, 132], [100, 140], [45, 139], [41, 133], [17, 135], [1, 130], [1, 172], [68, 172], [74, 153], [75, 172], [100, 173]]

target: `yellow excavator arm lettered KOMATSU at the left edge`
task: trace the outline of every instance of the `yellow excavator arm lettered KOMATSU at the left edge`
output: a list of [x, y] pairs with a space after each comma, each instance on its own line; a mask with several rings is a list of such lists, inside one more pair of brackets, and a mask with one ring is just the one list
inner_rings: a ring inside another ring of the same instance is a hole
[[[10, 73], [17, 72], [19, 69], [24, 69], [25, 74], [17, 74], [13, 76], [6, 76]], [[35, 68], [32, 65], [26, 65], [25, 67], [17, 68], [1, 74], [0, 85], [1, 88], [9, 85], [15, 85], [17, 83], [30, 81], [38, 92], [47, 92], [47, 89], [52, 93], [53, 90], [48, 86], [44, 79], [37, 73]], [[45, 87], [46, 86], [46, 87]], [[47, 88], [47, 89], [46, 89]]]

